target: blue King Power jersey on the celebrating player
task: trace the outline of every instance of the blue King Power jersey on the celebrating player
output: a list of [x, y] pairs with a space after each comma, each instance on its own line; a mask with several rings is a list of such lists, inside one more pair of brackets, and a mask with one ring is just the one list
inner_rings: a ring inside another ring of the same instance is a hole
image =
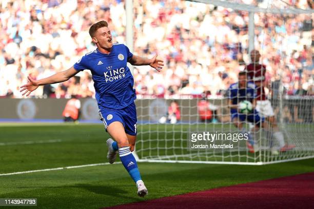
[[127, 67], [132, 56], [124, 44], [113, 44], [109, 54], [96, 49], [74, 64], [77, 71], [91, 71], [99, 109], [123, 109], [136, 99], [134, 79]]

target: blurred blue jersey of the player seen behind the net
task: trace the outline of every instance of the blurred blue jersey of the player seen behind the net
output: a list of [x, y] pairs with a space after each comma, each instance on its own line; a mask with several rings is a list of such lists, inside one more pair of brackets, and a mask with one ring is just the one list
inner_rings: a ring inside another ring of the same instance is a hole
[[232, 105], [237, 105], [240, 101], [253, 101], [257, 97], [256, 86], [253, 82], [247, 82], [245, 89], [239, 89], [239, 83], [233, 83], [228, 89], [228, 98], [232, 100]]

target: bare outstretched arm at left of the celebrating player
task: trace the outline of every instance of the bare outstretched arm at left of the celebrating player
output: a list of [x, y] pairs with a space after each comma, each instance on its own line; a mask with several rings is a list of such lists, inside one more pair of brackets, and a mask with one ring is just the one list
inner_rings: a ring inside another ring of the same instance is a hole
[[19, 92], [23, 92], [22, 95], [26, 94], [26, 96], [28, 96], [32, 91], [35, 91], [39, 86], [66, 81], [73, 77], [76, 73], [78, 73], [78, 71], [75, 70], [74, 67], [71, 67], [68, 70], [58, 72], [52, 76], [40, 80], [34, 80], [30, 76], [27, 76], [29, 82], [20, 87], [21, 90]]

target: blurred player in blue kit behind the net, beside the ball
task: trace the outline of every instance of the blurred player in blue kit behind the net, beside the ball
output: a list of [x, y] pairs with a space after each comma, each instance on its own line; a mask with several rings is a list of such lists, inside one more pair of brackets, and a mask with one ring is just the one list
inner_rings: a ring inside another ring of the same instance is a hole
[[[239, 73], [239, 81], [232, 83], [228, 89], [229, 107], [231, 114], [231, 121], [234, 126], [241, 130], [242, 133], [248, 134], [248, 141], [246, 142], [249, 152], [254, 153], [259, 151], [258, 144], [254, 141], [252, 135], [248, 133], [243, 126], [245, 121], [251, 122], [253, 128], [251, 133], [257, 133], [260, 126], [266, 127], [264, 117], [260, 117], [256, 110], [256, 86], [253, 82], [247, 82], [247, 72], [242, 71]], [[241, 101], [249, 101], [252, 103], [252, 111], [250, 113], [241, 113], [239, 104]]]

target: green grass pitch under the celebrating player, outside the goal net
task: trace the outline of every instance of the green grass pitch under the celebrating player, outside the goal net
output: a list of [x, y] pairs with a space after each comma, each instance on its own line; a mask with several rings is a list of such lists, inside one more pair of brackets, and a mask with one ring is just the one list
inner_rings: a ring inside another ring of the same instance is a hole
[[[107, 162], [107, 138], [102, 124], [0, 124], [0, 174]], [[57, 142], [7, 144], [45, 140]], [[313, 164], [314, 159], [262, 166], [139, 163], [149, 190], [144, 199], [136, 196], [122, 164], [16, 174], [0, 176], [0, 198], [37, 198], [36, 208], [100, 208], [314, 172]]]

